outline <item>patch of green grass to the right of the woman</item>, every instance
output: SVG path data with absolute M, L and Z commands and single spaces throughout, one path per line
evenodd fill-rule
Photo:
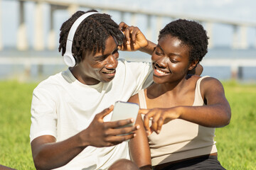
M 256 169 L 256 85 L 223 83 L 231 107 L 230 125 L 218 128 L 218 159 L 226 169 Z

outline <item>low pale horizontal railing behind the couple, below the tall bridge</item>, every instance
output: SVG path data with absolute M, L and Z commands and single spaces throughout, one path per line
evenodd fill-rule
M 129 58 L 124 57 L 126 60 L 131 60 L 134 62 L 151 62 L 150 57 L 145 60 L 142 58 Z M 256 58 L 255 59 L 225 59 L 218 58 L 216 59 L 208 59 L 205 58 L 201 62 L 203 67 L 230 67 L 230 79 L 243 79 L 243 68 L 244 67 L 256 67 Z M 1 65 L 23 65 L 23 73 L 26 77 L 23 77 L 25 80 L 31 79 L 32 74 L 32 66 L 36 66 L 37 75 L 43 75 L 43 67 L 44 66 L 61 66 L 65 67 L 63 62 L 63 58 L 60 56 L 56 57 L 0 57 L 0 67 Z M 33 71 L 35 72 L 35 71 Z M 53 73 L 50 73 L 53 74 Z M 47 77 L 50 76 L 46 75 Z

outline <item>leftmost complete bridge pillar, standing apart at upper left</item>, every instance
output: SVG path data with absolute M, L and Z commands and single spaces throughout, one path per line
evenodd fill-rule
M 24 1 L 18 1 L 19 4 L 19 23 L 17 31 L 17 48 L 18 50 L 28 49 L 28 40 L 26 35 Z

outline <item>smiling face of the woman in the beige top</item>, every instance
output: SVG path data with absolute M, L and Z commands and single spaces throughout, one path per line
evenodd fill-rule
M 172 35 L 161 38 L 151 57 L 154 82 L 164 84 L 183 79 L 190 64 L 189 50 L 188 45 Z

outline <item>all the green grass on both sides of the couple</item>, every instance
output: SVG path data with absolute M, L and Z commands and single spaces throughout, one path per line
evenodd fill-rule
M 34 169 L 29 143 L 31 98 L 36 83 L 0 81 L 0 164 Z M 230 125 L 218 128 L 218 159 L 225 169 L 256 169 L 256 85 L 223 83 Z

